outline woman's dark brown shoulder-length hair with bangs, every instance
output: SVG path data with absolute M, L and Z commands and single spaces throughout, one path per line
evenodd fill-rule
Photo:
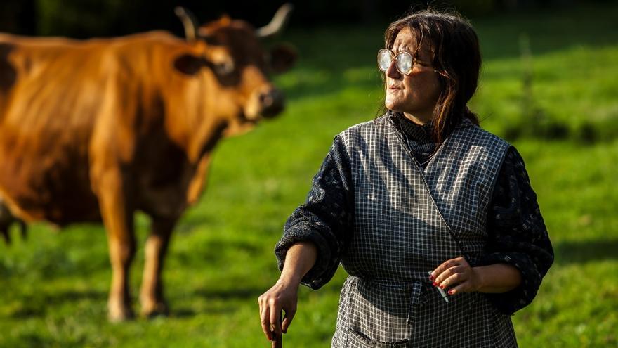
M 478 37 L 470 22 L 456 13 L 423 10 L 390 23 L 384 33 L 386 48 L 393 49 L 397 34 L 405 27 L 412 32 L 416 50 L 422 47 L 432 53 L 432 65 L 438 72 L 442 91 L 431 123 L 433 140 L 440 144 L 463 117 L 478 124 L 478 117 L 467 106 L 478 86 Z

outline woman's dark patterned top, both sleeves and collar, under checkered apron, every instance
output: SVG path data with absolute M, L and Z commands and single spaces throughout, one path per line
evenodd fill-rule
M 402 116 L 395 120 L 424 169 L 435 150 L 429 127 L 416 125 Z M 341 234 L 336 231 L 353 229 L 353 214 L 350 160 L 341 138 L 336 136 L 320 171 L 313 178 L 307 201 L 291 214 L 275 246 L 280 269 L 291 245 L 311 241 L 317 247 L 317 261 L 302 283 L 317 289 L 330 281 L 345 252 L 344 243 L 336 238 Z M 553 263 L 553 249 L 537 195 L 530 186 L 522 157 L 513 146 L 507 150 L 494 187 L 487 230 L 489 240 L 485 257 L 471 266 L 505 263 L 519 269 L 522 283 L 518 288 L 501 294 L 486 294 L 501 312 L 513 314 L 532 302 L 541 279 Z

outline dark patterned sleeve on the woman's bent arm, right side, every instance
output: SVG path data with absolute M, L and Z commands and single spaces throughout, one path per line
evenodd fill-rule
M 518 151 L 508 148 L 487 217 L 489 243 L 481 265 L 515 266 L 522 283 L 509 292 L 486 294 L 505 314 L 513 314 L 532 302 L 541 280 L 553 263 L 553 249 Z

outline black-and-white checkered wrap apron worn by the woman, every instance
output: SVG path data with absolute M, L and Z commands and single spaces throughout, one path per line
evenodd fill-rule
M 487 240 L 489 201 L 508 143 L 468 120 L 423 171 L 390 116 L 340 134 L 351 162 L 353 236 L 341 264 L 332 347 L 517 347 L 511 318 L 478 292 L 445 302 L 428 271 Z

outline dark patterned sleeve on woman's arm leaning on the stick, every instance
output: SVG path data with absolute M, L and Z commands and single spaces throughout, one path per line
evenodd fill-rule
M 353 224 L 353 197 L 350 160 L 341 138 L 336 136 L 313 178 L 307 200 L 291 214 L 275 246 L 279 269 L 283 269 L 291 245 L 310 241 L 317 247 L 317 259 L 301 283 L 312 289 L 328 283 L 348 244 L 348 232 Z

